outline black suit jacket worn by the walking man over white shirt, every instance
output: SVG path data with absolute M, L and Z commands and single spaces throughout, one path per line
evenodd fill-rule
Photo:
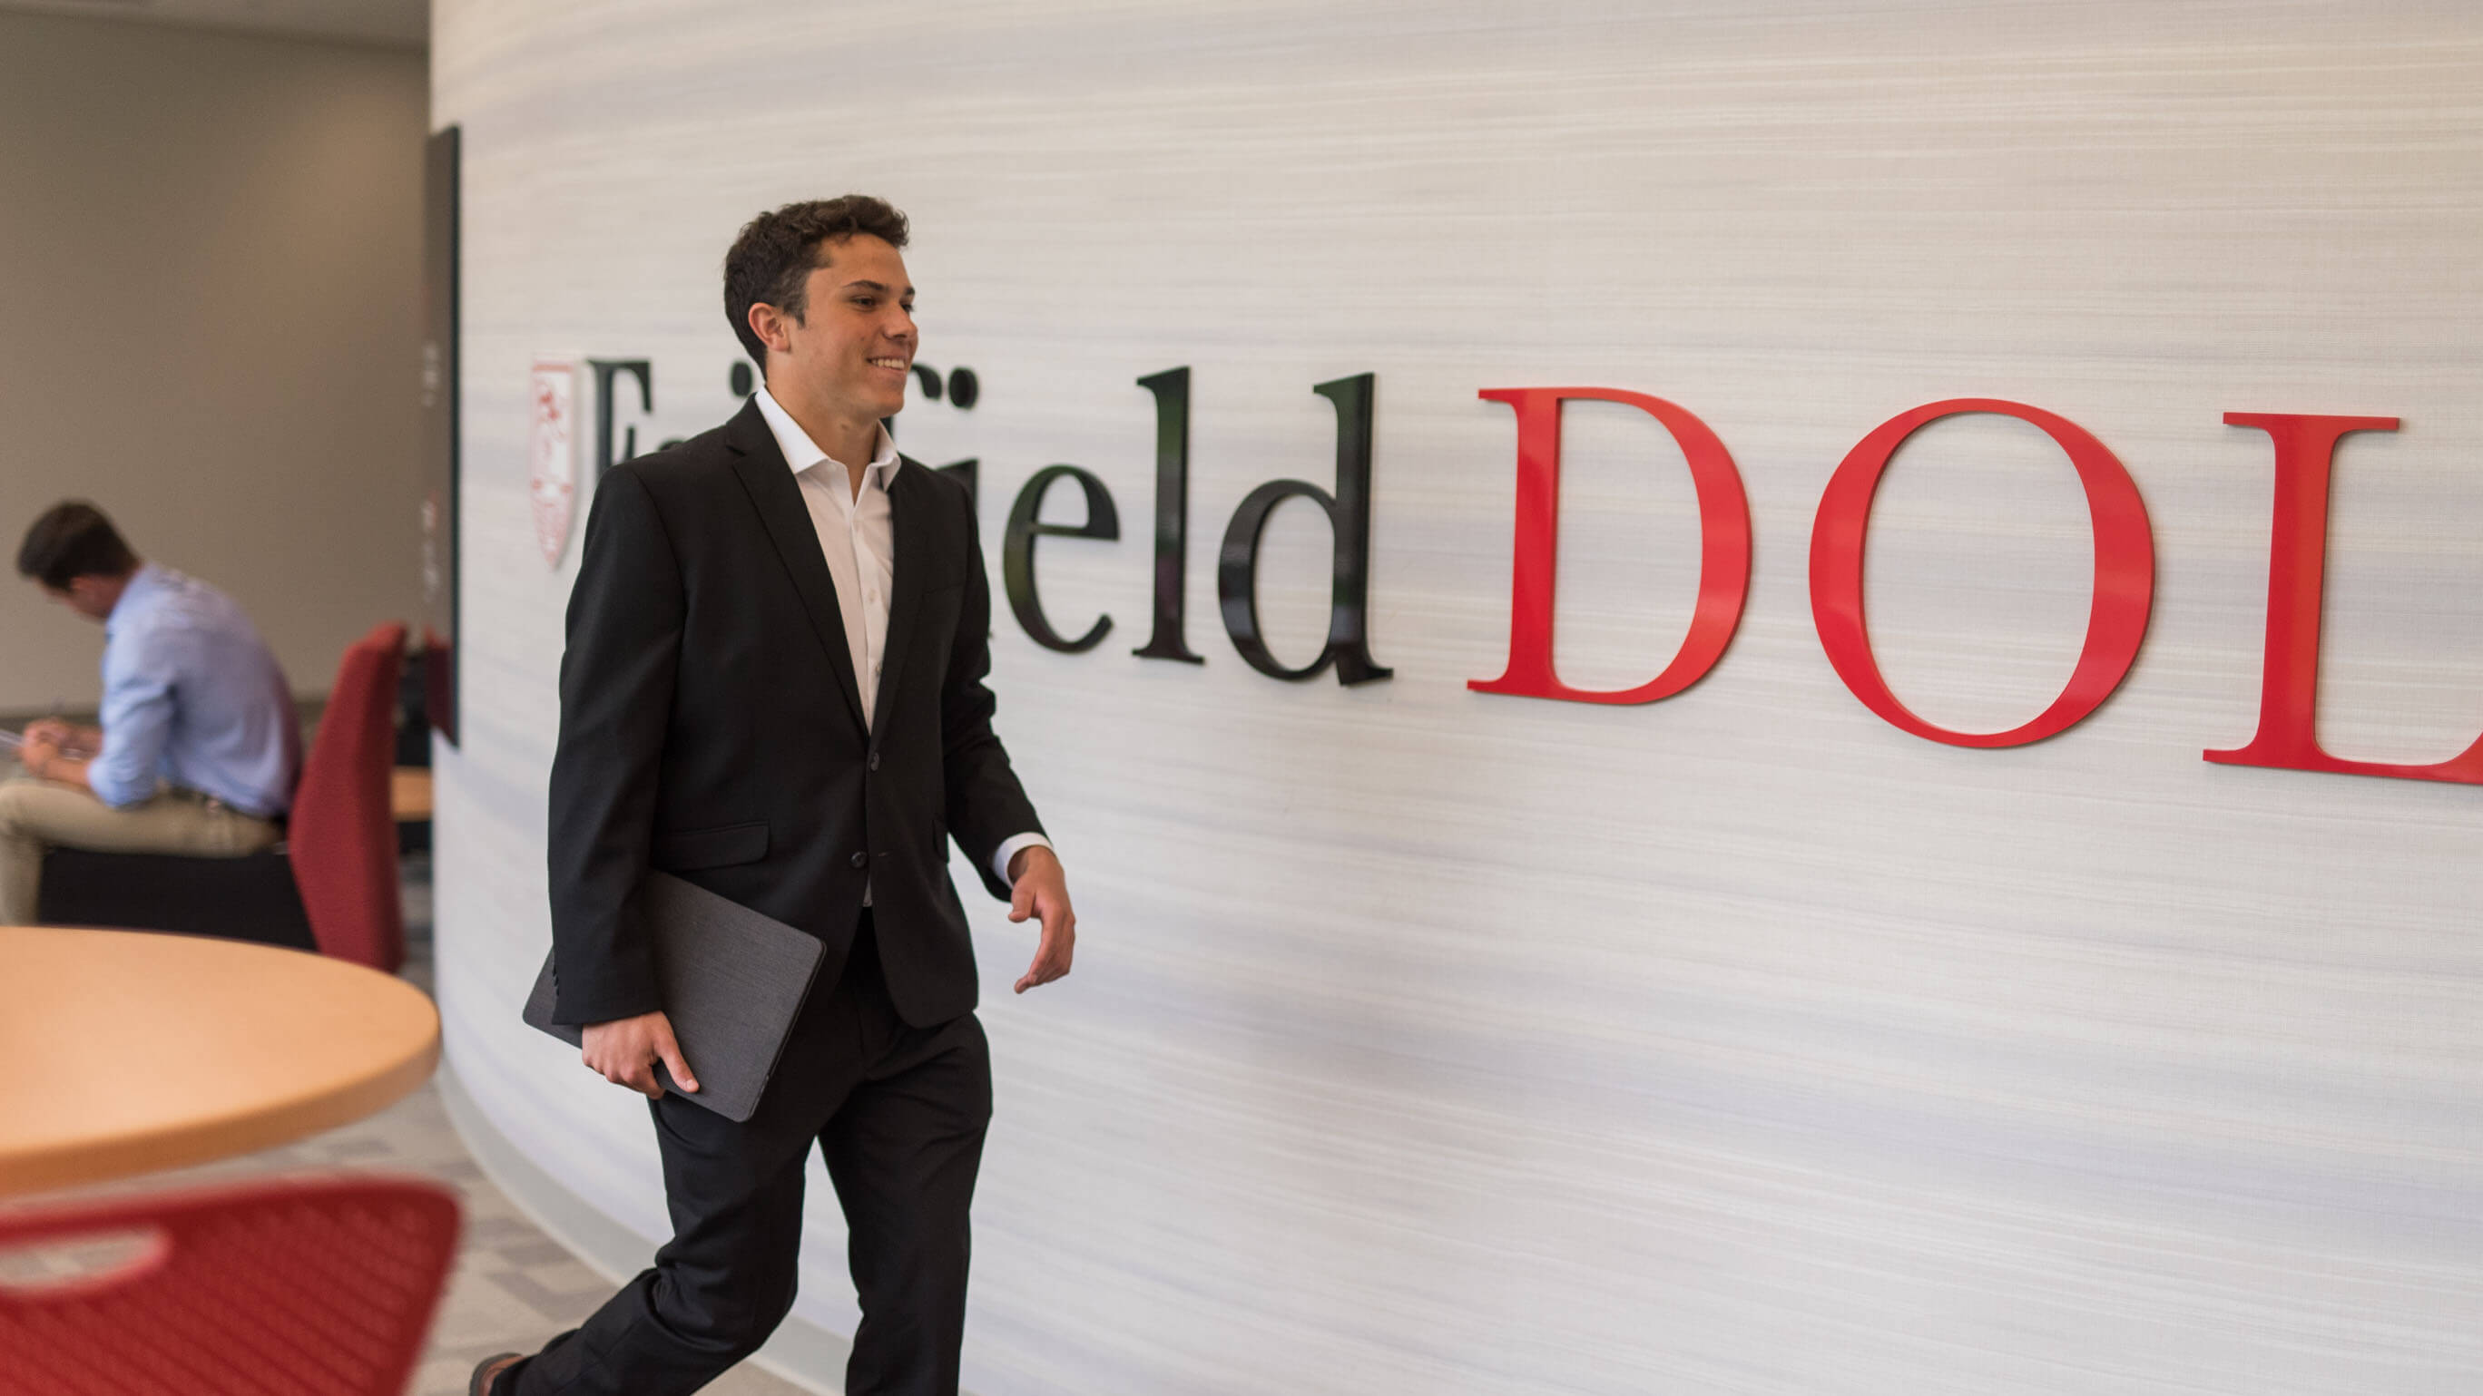
M 914 1026 L 973 1008 L 949 840 L 993 897 L 1003 840 L 1040 832 L 991 730 L 991 586 L 966 487 L 889 479 L 896 581 L 874 725 L 837 589 L 757 402 L 616 465 L 586 517 L 551 758 L 561 1023 L 660 1008 L 648 867 L 800 927 L 834 984 L 872 889 L 889 999 Z

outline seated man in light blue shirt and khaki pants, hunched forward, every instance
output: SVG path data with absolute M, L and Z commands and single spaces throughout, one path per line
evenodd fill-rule
M 241 857 L 281 837 L 300 723 L 241 606 L 142 561 L 94 504 L 55 504 L 17 571 L 104 623 L 102 728 L 25 730 L 0 782 L 0 927 L 35 922 L 45 847 Z

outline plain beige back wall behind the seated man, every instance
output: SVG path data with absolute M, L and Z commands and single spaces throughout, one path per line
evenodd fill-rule
M 420 609 L 425 55 L 0 15 L 0 544 L 60 497 L 231 591 L 303 693 Z M 0 713 L 99 633 L 0 584 Z

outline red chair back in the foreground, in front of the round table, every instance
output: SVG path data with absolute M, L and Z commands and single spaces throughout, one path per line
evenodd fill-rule
M 457 1200 L 355 1177 L 0 1212 L 0 1257 L 132 1235 L 102 1274 L 0 1267 L 0 1396 L 405 1396 Z

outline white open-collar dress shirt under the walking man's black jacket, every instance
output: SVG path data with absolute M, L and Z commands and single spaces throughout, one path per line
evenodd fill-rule
M 896 584 L 896 532 L 889 522 L 889 479 L 904 467 L 896 442 L 879 427 L 872 462 L 862 467 L 862 489 L 854 489 L 854 472 L 819 450 L 802 422 L 792 420 L 770 392 L 755 395 L 760 417 L 775 432 L 785 465 L 792 467 L 795 484 L 802 487 L 802 504 L 809 509 L 809 527 L 819 534 L 819 551 L 827 556 L 827 576 L 837 584 L 837 611 L 844 619 L 844 648 L 854 656 L 854 683 L 862 688 L 862 725 L 872 725 L 872 708 L 879 703 L 879 666 L 889 653 L 889 589 Z M 1008 859 L 1025 847 L 1053 847 L 1035 832 L 1001 840 L 991 854 L 991 867 L 1001 882 L 1011 882 Z M 869 889 L 862 904 L 872 904 Z

